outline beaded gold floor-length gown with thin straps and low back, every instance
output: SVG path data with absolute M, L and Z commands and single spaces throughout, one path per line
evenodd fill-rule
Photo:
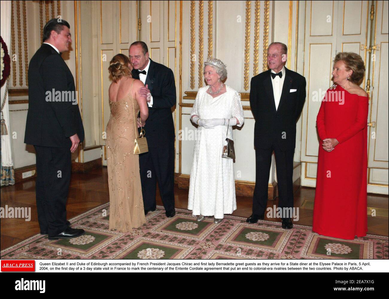
M 109 229 L 131 232 L 146 222 L 139 156 L 133 154 L 136 136 L 133 110 L 137 112 L 139 105 L 132 99 L 132 87 L 126 97 L 109 103 L 111 115 L 106 129 Z

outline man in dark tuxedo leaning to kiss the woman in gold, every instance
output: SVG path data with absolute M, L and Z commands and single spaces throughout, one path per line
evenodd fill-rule
M 139 155 L 145 214 L 156 209 L 158 181 L 166 217 L 173 217 L 175 133 L 171 108 L 176 102 L 174 74 L 168 67 L 149 59 L 149 49 L 143 41 L 132 43 L 129 54 L 133 78 L 145 85 L 138 93 L 147 99 L 149 106 L 149 118 L 144 126 L 149 152 Z

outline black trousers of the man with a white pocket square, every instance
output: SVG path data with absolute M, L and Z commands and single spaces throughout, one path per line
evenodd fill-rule
M 275 154 L 277 168 L 277 185 L 279 194 L 279 207 L 293 207 L 293 150 L 282 151 L 277 144 L 271 149 L 256 149 L 256 179 L 254 197 L 252 199 L 252 213 L 261 215 L 265 213 L 268 200 L 268 182 L 272 154 Z

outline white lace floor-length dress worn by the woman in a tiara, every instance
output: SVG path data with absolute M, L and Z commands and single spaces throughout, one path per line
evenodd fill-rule
M 226 85 L 225 93 L 212 98 L 207 93 L 208 88 L 198 90 L 191 116 L 198 115 L 201 119 L 236 117 L 238 126 L 242 126 L 244 116 L 239 93 Z M 193 210 L 193 215 L 221 219 L 237 209 L 233 159 L 221 157 L 227 130 L 232 140 L 231 126 L 197 128 L 188 198 L 188 209 Z

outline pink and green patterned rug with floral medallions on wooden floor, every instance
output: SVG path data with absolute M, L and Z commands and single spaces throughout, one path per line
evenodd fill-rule
M 109 204 L 70 221 L 86 233 L 74 239 L 48 240 L 35 235 L 1 251 L 2 259 L 387 259 L 388 237 L 368 235 L 353 241 L 320 236 L 310 226 L 226 216 L 197 222 L 176 209 L 166 218 L 163 207 L 147 214 L 147 223 L 131 233 L 110 231 Z

